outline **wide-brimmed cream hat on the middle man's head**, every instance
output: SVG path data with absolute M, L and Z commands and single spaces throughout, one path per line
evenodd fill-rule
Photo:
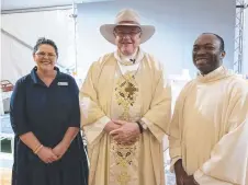
M 117 25 L 138 26 L 142 30 L 140 44 L 147 42 L 155 33 L 155 26 L 142 25 L 139 15 L 132 9 L 124 9 L 117 13 L 114 24 L 103 24 L 100 27 L 102 36 L 115 45 L 114 27 Z

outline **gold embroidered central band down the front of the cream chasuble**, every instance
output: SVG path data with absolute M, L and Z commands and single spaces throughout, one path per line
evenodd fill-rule
M 115 84 L 115 101 L 123 108 L 122 114 L 119 116 L 121 120 L 133 122 L 129 111 L 134 106 L 138 95 L 138 88 L 134 77 L 135 72 L 126 72 L 117 79 Z M 138 184 L 138 140 L 131 146 L 124 146 L 111 139 L 111 185 Z

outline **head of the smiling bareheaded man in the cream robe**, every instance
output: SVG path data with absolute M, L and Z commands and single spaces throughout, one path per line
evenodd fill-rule
M 224 48 L 217 36 L 202 34 L 193 46 L 193 62 L 202 74 L 207 74 L 222 66 Z

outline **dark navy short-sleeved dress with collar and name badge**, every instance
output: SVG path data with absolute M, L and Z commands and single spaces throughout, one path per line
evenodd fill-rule
M 11 96 L 11 125 L 15 134 L 12 185 L 87 185 L 88 161 L 81 135 L 64 157 L 46 164 L 19 136 L 32 131 L 49 148 L 58 144 L 68 127 L 80 127 L 79 90 L 72 77 L 59 72 L 47 88 L 36 68 L 21 78 Z

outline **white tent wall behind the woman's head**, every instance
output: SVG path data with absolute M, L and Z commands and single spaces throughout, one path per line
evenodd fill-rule
M 71 13 L 72 10 L 54 10 L 2 14 L 1 80 L 15 83 L 31 71 L 35 63 L 27 46 L 33 47 L 38 37 L 53 39 L 58 47 L 58 66 L 72 68 L 76 53 Z

